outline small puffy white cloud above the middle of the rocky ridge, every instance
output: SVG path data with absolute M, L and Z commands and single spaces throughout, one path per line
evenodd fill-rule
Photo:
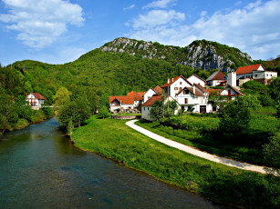
M 132 26 L 134 29 L 150 28 L 158 25 L 174 25 L 176 22 L 184 20 L 183 13 L 177 13 L 174 10 L 151 10 L 146 15 L 140 15 L 134 19 Z

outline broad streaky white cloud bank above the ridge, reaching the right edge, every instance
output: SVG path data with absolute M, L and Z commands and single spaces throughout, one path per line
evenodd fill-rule
M 279 8 L 279 0 L 264 4 L 257 1 L 225 14 L 219 11 L 208 17 L 201 14 L 201 18 L 192 25 L 182 25 L 178 21 L 183 19 L 183 14 L 173 18 L 177 20 L 176 25 L 172 23 L 174 21 L 167 21 L 163 17 L 150 20 L 150 14 L 140 15 L 134 20 L 128 36 L 180 46 L 189 45 L 195 39 L 206 39 L 237 47 L 254 59 L 266 59 L 279 54 Z M 172 13 L 177 14 L 175 11 Z

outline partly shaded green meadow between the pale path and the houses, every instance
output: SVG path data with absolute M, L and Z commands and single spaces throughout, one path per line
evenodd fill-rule
M 178 123 L 178 117 L 174 118 Z M 160 122 L 136 124 L 181 144 L 191 145 L 202 151 L 232 158 L 237 161 L 265 165 L 262 145 L 269 135 L 280 126 L 279 120 L 272 114 L 252 114 L 247 134 L 241 139 L 227 139 L 217 134 L 220 119 L 215 114 L 186 114 L 181 117 L 181 124 L 187 130 L 173 129 Z

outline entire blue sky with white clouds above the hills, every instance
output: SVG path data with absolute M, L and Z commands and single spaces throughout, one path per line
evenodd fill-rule
M 280 55 L 280 0 L 0 0 L 0 63 L 72 62 L 118 37 Z

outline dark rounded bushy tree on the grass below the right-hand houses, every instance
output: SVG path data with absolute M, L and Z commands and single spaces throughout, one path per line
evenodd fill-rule
M 219 129 L 221 132 L 241 134 L 249 126 L 250 111 L 242 103 L 231 102 L 223 106 Z

